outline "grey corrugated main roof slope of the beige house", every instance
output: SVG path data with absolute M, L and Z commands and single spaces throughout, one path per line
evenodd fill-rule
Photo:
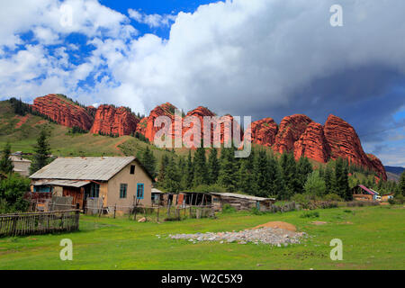
M 108 181 L 133 160 L 135 157 L 60 157 L 30 178 Z

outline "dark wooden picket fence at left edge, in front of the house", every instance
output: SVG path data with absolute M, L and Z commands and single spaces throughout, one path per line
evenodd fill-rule
M 0 237 L 76 231 L 79 210 L 0 215 Z

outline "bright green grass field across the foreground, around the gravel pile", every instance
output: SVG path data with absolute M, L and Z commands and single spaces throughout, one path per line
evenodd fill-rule
M 350 211 L 349 211 L 350 210 Z M 0 269 L 404 269 L 405 210 L 377 206 L 320 210 L 320 218 L 302 211 L 253 215 L 219 214 L 218 219 L 138 223 L 128 219 L 81 218 L 70 234 L 0 238 Z M 238 243 L 193 244 L 166 238 L 193 233 L 252 228 L 272 220 L 309 233 L 305 243 L 289 247 Z M 313 220 L 328 222 L 311 224 Z M 157 238 L 156 235 L 161 235 Z M 73 261 L 59 259 L 59 241 L 73 241 Z M 332 261 L 333 238 L 343 241 L 343 261 Z M 261 266 L 257 266 L 257 265 Z

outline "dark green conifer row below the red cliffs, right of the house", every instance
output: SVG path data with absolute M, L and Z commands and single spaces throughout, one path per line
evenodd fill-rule
M 311 193 L 320 197 L 336 194 L 350 201 L 351 187 L 356 182 L 350 182 L 349 175 L 365 171 L 341 158 L 314 169 L 308 158 L 295 160 L 293 153 L 277 157 L 271 151 L 253 149 L 249 157 L 236 158 L 234 152 L 234 148 L 197 148 L 193 155 L 190 150 L 187 157 L 164 155 L 158 170 L 156 158 L 148 148 L 139 158 L 157 176 L 157 186 L 166 192 L 246 193 L 279 200 Z M 148 161 L 153 164 L 148 165 Z M 392 191 L 396 191 L 395 183 L 379 182 L 381 187 L 392 184 Z

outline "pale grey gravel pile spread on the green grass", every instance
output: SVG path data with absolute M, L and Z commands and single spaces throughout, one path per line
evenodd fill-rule
M 246 229 L 239 232 L 196 233 L 196 234 L 170 234 L 168 238 L 184 239 L 193 243 L 201 241 L 220 241 L 220 243 L 247 244 L 247 242 L 269 244 L 274 246 L 288 246 L 299 244 L 302 238 L 307 238 L 305 232 L 293 232 L 278 228 Z

